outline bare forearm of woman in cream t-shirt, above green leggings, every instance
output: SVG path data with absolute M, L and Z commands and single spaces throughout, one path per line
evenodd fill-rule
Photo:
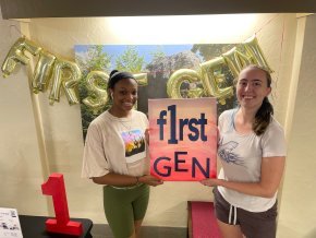
M 97 185 L 108 185 L 108 186 L 118 186 L 118 187 L 135 186 L 136 183 L 139 183 L 139 182 L 154 186 L 154 187 L 163 183 L 162 180 L 150 175 L 145 175 L 142 177 L 133 177 L 133 176 L 127 176 L 127 175 L 119 175 L 114 172 L 109 172 L 101 177 L 93 177 L 92 179 Z

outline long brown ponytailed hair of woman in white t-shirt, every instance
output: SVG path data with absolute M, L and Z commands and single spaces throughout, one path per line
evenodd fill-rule
M 250 64 L 245 67 L 243 70 L 246 69 L 258 69 L 265 72 L 266 78 L 267 78 L 267 86 L 271 87 L 271 74 L 270 72 L 259 66 L 256 64 Z M 238 79 L 235 79 L 234 84 L 236 85 Z M 265 133 L 266 129 L 268 128 L 274 115 L 274 106 L 270 104 L 268 97 L 265 97 L 263 100 L 263 104 L 260 108 L 257 110 L 255 115 L 255 120 L 253 122 L 253 131 L 255 132 L 256 135 L 262 135 Z

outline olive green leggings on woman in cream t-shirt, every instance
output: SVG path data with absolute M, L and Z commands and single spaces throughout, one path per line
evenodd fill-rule
M 131 237 L 134 222 L 145 217 L 149 200 L 149 186 L 133 189 L 104 187 L 104 206 L 109 226 L 116 238 Z

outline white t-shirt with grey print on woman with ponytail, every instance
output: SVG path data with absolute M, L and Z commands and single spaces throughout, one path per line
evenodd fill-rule
M 258 182 L 263 157 L 285 156 L 285 139 L 282 127 L 272 118 L 266 132 L 240 134 L 234 128 L 238 109 L 222 112 L 219 117 L 218 156 L 222 168 L 218 178 L 228 181 Z M 221 195 L 232 205 L 250 212 L 264 212 L 276 203 L 274 198 L 254 197 L 218 187 Z

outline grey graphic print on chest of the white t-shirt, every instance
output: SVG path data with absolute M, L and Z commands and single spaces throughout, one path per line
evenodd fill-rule
M 233 152 L 234 148 L 239 145 L 238 142 L 235 141 L 229 141 L 227 143 L 222 143 L 222 139 L 219 141 L 219 146 L 218 146 L 218 155 L 219 157 L 224 160 L 226 163 L 234 164 L 234 165 L 240 165 L 244 166 L 243 159 Z

